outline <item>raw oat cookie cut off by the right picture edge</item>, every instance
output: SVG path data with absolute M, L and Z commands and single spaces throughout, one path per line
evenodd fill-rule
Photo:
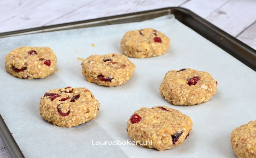
M 256 158 L 256 121 L 233 130 L 231 146 L 238 158 Z

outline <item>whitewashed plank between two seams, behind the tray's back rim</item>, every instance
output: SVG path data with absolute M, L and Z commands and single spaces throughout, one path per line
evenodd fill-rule
M 132 0 L 98 0 L 90 1 L 88 4 L 77 9 L 70 14 L 64 15 L 57 20 L 46 23 L 45 25 L 60 24 L 64 22 L 79 21 L 85 19 L 94 19 L 111 15 L 120 15 L 125 13 L 140 12 L 152 10 L 157 8 L 164 8 L 170 6 L 178 6 L 186 2 L 186 0 L 157 0 L 157 1 L 132 1 Z M 99 5 L 104 4 L 104 5 Z

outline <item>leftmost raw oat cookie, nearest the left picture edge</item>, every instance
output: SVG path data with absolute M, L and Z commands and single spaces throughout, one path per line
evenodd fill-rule
M 57 58 L 49 47 L 20 47 L 5 57 L 5 69 L 15 77 L 44 78 L 54 72 Z

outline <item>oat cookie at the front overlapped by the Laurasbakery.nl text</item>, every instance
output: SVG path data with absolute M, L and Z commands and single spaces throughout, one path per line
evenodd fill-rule
M 183 143 L 192 126 L 191 118 L 178 110 L 165 106 L 142 107 L 129 118 L 127 132 L 132 140 L 162 151 Z

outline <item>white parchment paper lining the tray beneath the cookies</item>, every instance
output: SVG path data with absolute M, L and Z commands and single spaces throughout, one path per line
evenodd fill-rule
M 155 28 L 171 39 L 162 56 L 130 60 L 136 69 L 120 87 L 88 83 L 77 57 L 121 53 L 124 33 Z M 92 43 L 95 47 L 92 47 Z M 144 22 L 82 28 L 0 39 L 0 112 L 26 157 L 236 157 L 230 134 L 236 127 L 255 120 L 256 73 L 173 16 Z M 4 68 L 4 57 L 21 46 L 49 46 L 58 58 L 58 72 L 44 79 L 18 79 Z M 196 106 L 173 106 L 159 92 L 169 70 L 193 68 L 209 72 L 218 81 L 216 95 Z M 60 128 L 39 115 L 40 97 L 61 87 L 87 87 L 100 102 L 99 115 L 72 128 Z M 159 152 L 136 145 L 96 146 L 96 141 L 131 141 L 126 123 L 141 107 L 165 105 L 189 115 L 194 123 L 186 141 Z

